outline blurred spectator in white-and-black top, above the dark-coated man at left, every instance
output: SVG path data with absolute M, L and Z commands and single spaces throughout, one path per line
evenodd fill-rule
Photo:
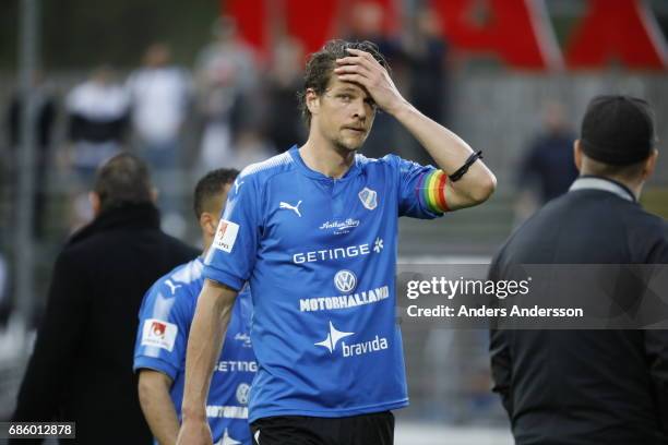
M 128 127 L 129 99 L 109 67 L 96 69 L 67 97 L 71 164 L 84 184 L 97 167 L 120 152 Z

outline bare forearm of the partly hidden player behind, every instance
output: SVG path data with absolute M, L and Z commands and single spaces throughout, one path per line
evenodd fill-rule
M 171 378 L 159 371 L 140 371 L 140 405 L 151 432 L 160 445 L 176 444 L 179 434 L 179 419 L 169 397 L 171 383 Z

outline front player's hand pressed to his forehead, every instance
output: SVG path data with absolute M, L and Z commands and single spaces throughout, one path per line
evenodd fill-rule
M 349 56 L 336 59 L 334 73 L 342 82 L 361 85 L 384 111 L 392 113 L 405 103 L 385 70 L 369 52 L 348 48 Z

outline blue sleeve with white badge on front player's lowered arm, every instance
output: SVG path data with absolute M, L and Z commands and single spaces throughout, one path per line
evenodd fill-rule
M 262 194 L 257 175 L 239 175 L 229 191 L 216 236 L 204 258 L 203 276 L 240 290 L 255 265 Z

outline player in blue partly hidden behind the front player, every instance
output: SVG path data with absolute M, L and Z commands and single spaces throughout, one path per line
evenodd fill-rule
M 238 171 L 218 169 L 195 187 L 194 211 L 204 251 L 211 245 L 218 215 Z M 142 410 L 156 441 L 174 444 L 179 432 L 188 332 L 204 284 L 202 258 L 183 264 L 158 279 L 144 297 L 134 352 Z M 248 392 L 257 371 L 249 337 L 250 296 L 243 291 L 231 308 L 225 348 L 212 365 L 213 382 L 206 417 L 216 444 L 251 443 Z

